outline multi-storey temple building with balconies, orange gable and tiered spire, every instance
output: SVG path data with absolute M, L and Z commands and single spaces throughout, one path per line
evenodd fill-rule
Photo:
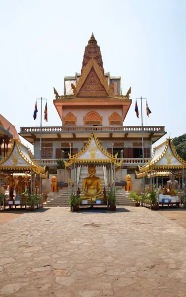
M 68 159 L 87 145 L 91 133 L 109 153 L 122 159 L 122 168 L 135 172 L 142 165 L 140 126 L 125 126 L 131 106 L 131 88 L 122 95 L 121 77 L 105 73 L 101 51 L 93 34 L 85 48 L 81 73 L 64 78 L 64 94 L 53 88 L 53 103 L 62 121 L 59 127 L 42 127 L 42 165 L 56 167 L 58 158 Z M 134 117 L 135 117 L 134 112 Z M 51 120 L 52 121 L 52 120 Z M 52 124 L 52 122 L 51 122 Z M 34 159 L 40 159 L 40 127 L 21 127 L 19 133 L 34 145 Z M 163 135 L 163 126 L 144 126 L 144 162 L 151 146 Z

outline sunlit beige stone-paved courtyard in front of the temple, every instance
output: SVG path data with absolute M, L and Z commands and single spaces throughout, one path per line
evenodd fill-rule
M 186 229 L 142 207 L 23 213 L 0 225 L 0 296 L 186 297 Z

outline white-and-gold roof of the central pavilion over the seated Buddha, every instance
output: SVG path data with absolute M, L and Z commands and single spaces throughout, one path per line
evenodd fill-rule
M 119 169 L 122 164 L 122 160 L 117 162 L 117 153 L 112 155 L 108 151 L 106 151 L 98 141 L 98 138 L 92 133 L 87 145 L 82 148 L 82 150 L 75 155 L 69 155 L 69 162 L 67 163 L 64 160 L 65 166 L 68 168 L 73 163 L 79 163 L 80 165 L 105 165 L 108 163 L 113 163 L 116 169 Z

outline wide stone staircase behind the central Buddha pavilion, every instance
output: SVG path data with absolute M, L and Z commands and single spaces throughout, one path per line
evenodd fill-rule
M 83 179 L 88 176 L 89 176 L 88 167 L 81 167 L 79 184 L 78 184 L 78 187 L 80 188 L 81 193 L 82 193 Z M 96 176 L 98 176 L 101 179 L 102 190 L 103 190 L 103 188 L 105 187 L 103 167 L 96 166 Z M 107 187 L 105 188 L 107 191 Z M 70 197 L 70 195 L 71 195 L 71 190 L 67 190 L 63 194 L 60 194 L 57 197 L 50 199 L 50 201 L 45 202 L 44 206 L 68 207 L 69 206 L 68 198 Z M 135 201 L 132 201 L 129 199 L 127 192 L 125 192 L 124 194 L 123 190 L 116 191 L 116 206 L 133 206 L 133 205 L 135 206 Z

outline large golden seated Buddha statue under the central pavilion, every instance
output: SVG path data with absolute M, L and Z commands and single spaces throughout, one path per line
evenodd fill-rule
M 89 177 L 83 179 L 82 191 L 85 195 L 82 195 L 83 200 L 87 199 L 88 203 L 93 202 L 96 199 L 104 200 L 104 195 L 102 194 L 101 179 L 95 176 L 95 165 L 89 166 Z

